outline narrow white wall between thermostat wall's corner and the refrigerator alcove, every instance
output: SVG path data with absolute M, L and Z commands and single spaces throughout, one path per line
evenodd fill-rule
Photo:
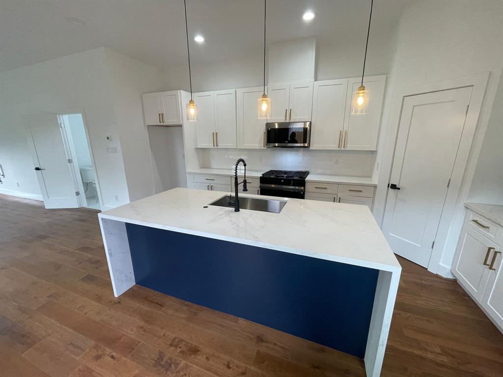
M 129 200 L 135 201 L 155 194 L 141 93 L 160 91 L 163 75 L 157 68 L 129 56 L 109 49 L 105 52 Z

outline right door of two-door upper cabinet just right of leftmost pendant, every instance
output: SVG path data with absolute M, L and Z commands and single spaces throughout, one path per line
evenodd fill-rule
M 236 90 L 214 92 L 215 101 L 215 146 L 236 148 Z

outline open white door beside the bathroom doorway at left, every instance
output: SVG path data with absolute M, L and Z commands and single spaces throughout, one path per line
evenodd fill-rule
M 33 163 L 45 208 L 77 208 L 74 177 L 56 114 L 28 121 Z

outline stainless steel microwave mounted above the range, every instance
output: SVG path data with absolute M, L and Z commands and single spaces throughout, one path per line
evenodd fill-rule
M 266 146 L 307 148 L 311 137 L 311 122 L 266 123 Z

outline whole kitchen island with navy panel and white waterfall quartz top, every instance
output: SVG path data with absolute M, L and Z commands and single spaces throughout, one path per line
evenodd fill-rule
M 224 195 L 178 188 L 100 213 L 115 296 L 139 284 L 363 357 L 378 376 L 401 267 L 369 209 L 209 205 Z

